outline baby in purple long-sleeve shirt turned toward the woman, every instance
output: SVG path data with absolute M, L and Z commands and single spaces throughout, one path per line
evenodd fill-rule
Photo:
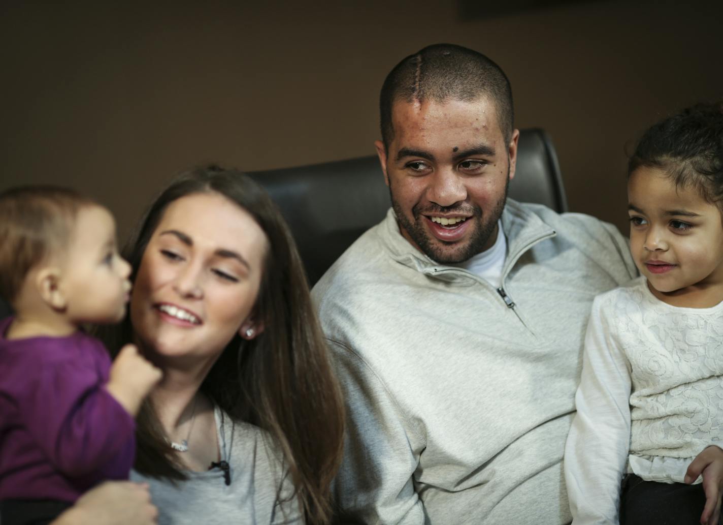
M 133 417 L 161 372 L 128 345 L 111 366 L 85 323 L 116 323 L 129 264 L 115 223 L 71 190 L 0 194 L 0 513 L 3 525 L 52 521 L 103 479 L 126 479 Z

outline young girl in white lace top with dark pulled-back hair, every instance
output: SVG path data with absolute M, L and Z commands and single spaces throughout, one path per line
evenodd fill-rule
M 628 201 L 642 275 L 593 304 L 565 448 L 573 524 L 717 524 L 723 104 L 686 109 L 643 135 Z

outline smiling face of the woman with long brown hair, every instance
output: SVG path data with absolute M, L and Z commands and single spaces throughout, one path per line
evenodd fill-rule
M 260 332 L 253 309 L 267 250 L 251 215 L 218 193 L 169 204 L 133 285 L 138 343 L 161 364 L 210 366 L 236 333 Z

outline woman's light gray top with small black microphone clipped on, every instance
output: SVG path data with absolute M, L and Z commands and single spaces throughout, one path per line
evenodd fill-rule
M 283 479 L 281 453 L 258 427 L 233 421 L 215 408 L 221 460 L 228 462 L 231 484 L 221 469 L 188 471 L 189 479 L 171 482 L 131 472 L 131 481 L 150 485 L 158 507 L 158 525 L 302 524 L 291 479 Z M 281 503 L 279 503 L 281 500 Z

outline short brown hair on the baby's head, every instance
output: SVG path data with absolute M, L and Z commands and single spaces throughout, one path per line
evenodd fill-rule
M 78 210 L 98 206 L 69 188 L 19 186 L 0 193 L 0 296 L 13 303 L 27 273 L 69 243 Z

